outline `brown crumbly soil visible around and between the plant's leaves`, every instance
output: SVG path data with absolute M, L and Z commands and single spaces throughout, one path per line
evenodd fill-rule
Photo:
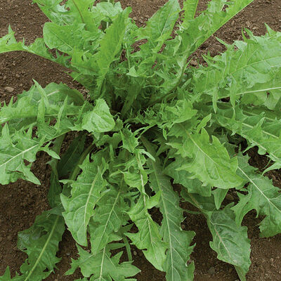
M 15 31 L 17 39 L 25 38 L 31 43 L 37 37 L 42 36 L 42 27 L 47 18 L 31 0 L 0 0 L 0 37 L 8 32 L 8 24 Z M 132 6 L 131 18 L 138 25 L 143 25 L 145 20 L 157 11 L 166 1 L 164 0 L 122 0 L 122 6 Z M 199 10 L 202 11 L 207 5 L 207 0 L 200 1 Z M 227 43 L 242 39 L 242 27 L 247 27 L 256 35 L 266 32 L 266 22 L 273 30 L 281 31 L 281 1 L 280 0 L 255 0 L 233 20 L 230 20 L 215 36 Z M 211 37 L 204 43 L 195 55 L 210 52 L 216 55 L 223 51 L 223 46 Z M 46 86 L 51 81 L 60 82 L 70 87 L 81 89 L 81 86 L 72 82 L 71 77 L 65 73 L 63 67 L 59 67 L 43 58 L 22 52 L 13 52 L 0 55 L 0 102 L 8 102 L 12 96 L 16 96 L 23 90 L 30 89 L 32 79 Z M 11 87 L 11 92 L 6 91 L 6 86 Z M 69 140 L 70 140 L 69 136 Z M 69 141 L 68 141 L 69 142 Z M 67 141 L 66 144 L 67 145 Z M 251 164 L 263 169 L 266 166 L 266 158 L 257 154 L 256 150 L 250 150 Z M 17 181 L 9 185 L 0 185 L 0 276 L 6 266 L 10 266 L 13 275 L 19 271 L 20 265 L 26 256 L 16 247 L 17 233 L 28 228 L 34 222 L 35 217 L 48 209 L 46 193 L 50 169 L 46 162 L 48 157 L 41 153 L 34 163 L 32 171 L 41 181 L 41 185 L 34 185 L 26 181 Z M 281 188 L 281 172 L 271 171 L 268 176 L 273 178 L 273 183 Z M 255 218 L 254 212 L 244 218 L 243 224 L 248 227 L 251 239 L 251 267 L 247 275 L 249 281 L 281 280 L 281 235 L 268 239 L 259 238 L 259 219 Z M 191 260 L 195 262 L 195 281 L 235 281 L 239 280 L 235 269 L 227 263 L 218 261 L 216 253 L 209 247 L 211 235 L 207 228 L 204 217 L 187 214 L 183 222 L 186 230 L 195 230 L 195 250 Z M 58 256 L 62 261 L 46 280 L 75 280 L 81 277 L 77 271 L 72 276 L 63 276 L 70 267 L 70 258 L 75 258 L 77 250 L 70 233 L 63 235 L 60 243 Z M 143 254 L 133 249 L 135 265 L 142 272 L 136 276 L 138 281 L 165 280 L 164 274 L 150 266 Z

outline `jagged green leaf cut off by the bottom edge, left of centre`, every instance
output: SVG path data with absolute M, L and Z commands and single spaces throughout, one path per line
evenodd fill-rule
M 123 252 L 120 251 L 112 256 L 110 249 L 116 249 L 112 245 L 114 244 L 103 248 L 98 254 L 89 253 L 77 246 L 79 258 L 72 259 L 72 268 L 67 271 L 66 275 L 70 275 L 80 268 L 85 277 L 90 277 L 90 281 L 132 280 L 128 277 L 136 275 L 140 270 L 133 266 L 131 261 L 119 263 Z

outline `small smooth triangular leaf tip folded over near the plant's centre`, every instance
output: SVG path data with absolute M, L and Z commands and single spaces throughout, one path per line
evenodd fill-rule
M 105 100 L 96 100 L 93 110 L 86 112 L 81 124 L 82 129 L 89 132 L 103 133 L 111 131 L 115 127 L 115 120 L 110 114 L 110 108 Z

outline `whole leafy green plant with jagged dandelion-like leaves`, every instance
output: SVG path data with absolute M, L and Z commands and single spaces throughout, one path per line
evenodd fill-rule
M 119 2 L 34 0 L 50 19 L 44 38 L 26 46 L 9 28 L 0 53 L 27 51 L 63 65 L 88 96 L 34 81 L 1 107 L 0 183 L 40 184 L 30 170 L 39 151 L 52 157 L 52 173 L 51 209 L 18 234 L 28 257 L 20 273 L 12 278 L 7 268 L 0 280 L 48 277 L 60 261 L 65 225 L 79 251 L 67 275 L 80 268 L 83 281 L 136 280 L 133 244 L 166 280 L 193 280 L 194 263 L 187 261 L 195 233 L 181 229 L 180 202 L 204 214 L 211 249 L 246 280 L 244 216 L 255 209 L 263 217 L 261 237 L 281 233 L 280 190 L 244 153 L 257 146 L 268 156 L 266 171 L 281 167 L 281 34 L 268 26 L 262 37 L 245 30 L 244 41 L 220 40 L 226 52 L 204 56 L 207 66 L 188 63 L 251 1 L 212 0 L 195 18 L 198 0 L 185 0 L 182 10 L 169 0 L 137 27 L 131 8 Z M 78 133 L 62 154 L 71 131 Z M 230 204 L 228 192 L 237 195 Z M 128 260 L 120 262 L 123 247 Z

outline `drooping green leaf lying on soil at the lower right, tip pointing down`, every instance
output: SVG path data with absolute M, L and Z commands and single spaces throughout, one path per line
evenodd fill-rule
M 218 259 L 233 264 L 240 280 L 246 281 L 245 275 L 251 264 L 247 227 L 237 225 L 235 214 L 229 206 L 217 210 L 214 197 L 190 195 L 186 190 L 183 190 L 181 195 L 200 209 L 207 218 L 208 227 L 213 237 L 210 247 L 217 252 Z

